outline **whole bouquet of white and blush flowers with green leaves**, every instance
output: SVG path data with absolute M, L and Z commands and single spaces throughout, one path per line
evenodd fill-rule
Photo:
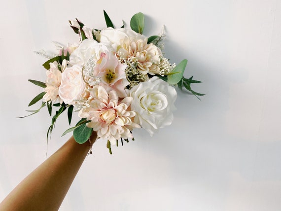
M 142 13 L 131 18 L 131 29 L 124 25 L 114 28 L 105 11 L 104 15 L 107 27 L 101 30 L 87 28 L 78 19 L 70 21 L 79 43 L 59 46 L 53 57 L 45 55 L 45 82 L 29 80 L 44 91 L 29 106 L 42 100 L 40 108 L 31 112 L 47 106 L 50 116 L 57 107 L 47 140 L 61 113 L 67 110 L 70 124 L 76 111 L 81 120 L 63 135 L 73 131 L 75 141 L 84 143 L 95 131 L 107 140 L 111 154 L 111 144 L 134 140 L 134 128 L 143 128 L 152 136 L 172 123 L 174 86 L 184 87 L 196 97 L 203 94 L 190 87 L 201 81 L 183 76 L 187 60 L 175 65 L 164 57 L 163 33 L 142 35 Z

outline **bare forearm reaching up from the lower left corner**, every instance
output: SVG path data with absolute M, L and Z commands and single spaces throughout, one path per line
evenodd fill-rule
M 97 139 L 94 132 L 90 138 Z M 0 203 L 0 211 L 57 211 L 90 150 L 90 142 L 71 137 Z

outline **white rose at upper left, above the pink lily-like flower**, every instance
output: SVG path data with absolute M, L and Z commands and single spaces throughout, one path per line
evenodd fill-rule
M 99 60 L 101 53 L 105 51 L 109 51 L 109 49 L 103 43 L 94 39 L 84 39 L 71 53 L 70 64 L 83 66 L 92 56 L 94 60 Z

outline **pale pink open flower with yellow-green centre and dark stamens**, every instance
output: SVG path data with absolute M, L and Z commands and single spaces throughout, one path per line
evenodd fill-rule
M 126 79 L 125 69 L 127 65 L 123 65 L 117 57 L 111 53 L 101 53 L 101 58 L 98 60 L 94 75 L 101 78 L 101 83 L 107 92 L 115 90 L 121 98 L 127 97 L 125 87 L 129 84 Z

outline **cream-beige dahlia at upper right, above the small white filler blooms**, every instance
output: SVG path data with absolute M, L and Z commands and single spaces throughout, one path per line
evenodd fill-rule
M 120 41 L 117 55 L 123 59 L 136 58 L 138 70 L 142 74 L 157 74 L 160 72 L 158 64 L 162 53 L 152 43 L 147 44 L 147 39 L 136 39 L 125 37 Z

